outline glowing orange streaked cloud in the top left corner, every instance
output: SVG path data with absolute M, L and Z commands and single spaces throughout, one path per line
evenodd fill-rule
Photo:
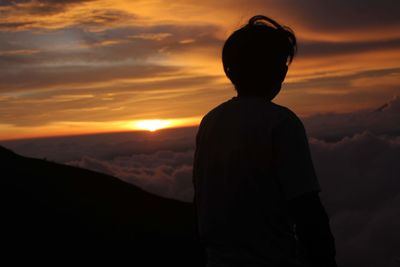
M 102 31 L 108 28 L 129 25 L 137 17 L 124 10 L 91 8 L 70 12 L 70 9 L 96 0 L 73 1 L 18 1 L 3 5 L 0 15 L 4 23 L 0 24 L 0 31 L 51 31 L 68 27 L 82 28 L 86 31 Z M 1 7 L 1 6 L 0 6 Z M 59 16 L 62 14 L 63 16 Z

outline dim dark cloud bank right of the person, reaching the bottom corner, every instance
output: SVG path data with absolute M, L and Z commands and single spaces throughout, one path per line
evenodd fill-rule
M 312 139 L 322 200 L 345 266 L 400 266 L 400 137 Z

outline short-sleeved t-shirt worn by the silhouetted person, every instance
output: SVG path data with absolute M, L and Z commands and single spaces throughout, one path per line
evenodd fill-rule
M 196 135 L 193 185 L 210 261 L 297 266 L 287 201 L 320 186 L 303 123 L 291 110 L 233 97 L 208 112 Z

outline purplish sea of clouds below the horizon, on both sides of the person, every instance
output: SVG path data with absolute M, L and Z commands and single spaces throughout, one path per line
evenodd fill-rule
M 400 97 L 303 118 L 340 267 L 400 266 Z M 196 128 L 1 142 L 25 156 L 118 177 L 192 201 Z

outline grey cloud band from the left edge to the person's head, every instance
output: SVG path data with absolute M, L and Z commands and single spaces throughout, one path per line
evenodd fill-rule
M 120 15 L 116 15 L 118 19 Z M 96 20 L 88 18 L 91 25 Z M 81 22 L 85 24 L 86 22 Z M 87 24 L 85 24 L 87 25 Z M 40 49 L 29 57 L 18 55 L 0 57 L 2 65 L 21 66 L 52 62 L 96 62 L 143 60 L 165 52 L 179 53 L 196 47 L 219 49 L 222 41 L 216 37 L 219 27 L 213 25 L 124 26 L 99 32 L 69 27 L 41 33 L 0 32 L 0 51 L 9 49 Z M 182 41 L 192 40 L 191 43 Z M 27 44 L 27 41 L 28 44 Z M 161 51 L 162 50 L 162 51 Z

